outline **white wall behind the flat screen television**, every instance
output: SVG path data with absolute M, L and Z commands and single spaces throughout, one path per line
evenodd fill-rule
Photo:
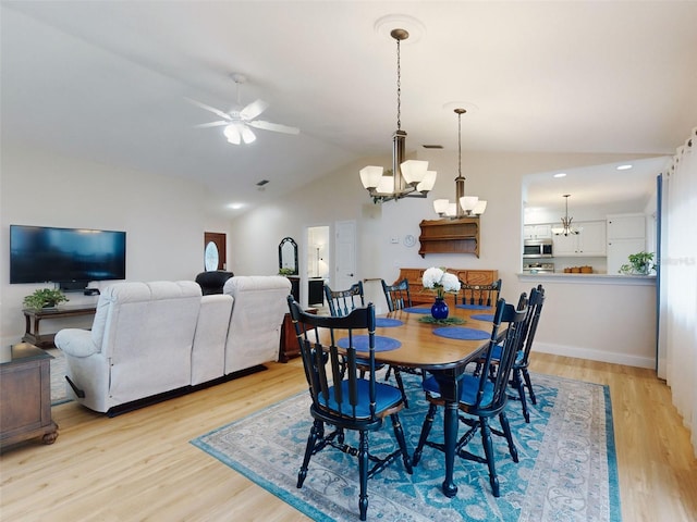
M 10 285 L 10 224 L 125 231 L 130 281 L 193 279 L 203 271 L 204 231 L 228 232 L 225 221 L 207 214 L 207 191 L 195 183 L 5 144 L 0 173 L 3 345 L 24 334 L 24 296 L 49 286 Z M 70 304 L 96 300 L 80 293 L 68 297 Z M 60 327 L 83 324 L 61 321 Z M 42 322 L 41 332 L 51 326 Z

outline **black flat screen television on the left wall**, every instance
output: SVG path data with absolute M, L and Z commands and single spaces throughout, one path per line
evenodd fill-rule
M 76 290 L 125 277 L 125 232 L 10 225 L 10 283 L 51 282 Z

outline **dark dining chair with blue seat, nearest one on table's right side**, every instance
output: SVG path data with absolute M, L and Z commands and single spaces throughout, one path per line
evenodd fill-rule
M 526 296 L 521 299 L 527 300 Z M 455 446 L 455 455 L 463 459 L 486 463 L 489 468 L 489 483 L 494 497 L 500 496 L 499 478 L 496 472 L 496 460 L 493 452 L 493 444 L 491 434 L 505 437 L 509 445 L 509 452 L 514 462 L 518 461 L 518 453 L 511 435 L 511 426 L 505 415 L 505 406 L 508 401 L 506 387 L 513 365 L 515 353 L 517 352 L 524 334 L 524 321 L 527 308 L 516 309 L 513 304 L 508 304 L 504 299 L 497 302 L 496 312 L 492 321 L 491 336 L 486 348 L 484 358 L 484 368 L 479 375 L 464 374 L 457 382 L 460 399 L 457 408 L 466 415 L 458 415 L 461 422 L 468 426 L 466 433 L 457 440 Z M 496 372 L 493 378 L 490 378 L 489 365 L 493 350 L 499 339 L 499 330 L 502 324 L 508 327 L 502 343 L 501 359 L 499 361 L 499 371 Z M 421 459 L 424 446 L 436 448 L 444 451 L 442 442 L 432 442 L 428 439 L 428 435 L 433 424 L 433 418 L 439 406 L 444 406 L 441 398 L 440 388 L 436 377 L 429 377 L 424 381 L 424 391 L 426 391 L 426 400 L 429 402 L 428 413 L 424 420 L 421 434 L 418 445 L 412 458 L 412 465 L 417 465 Z M 499 417 L 501 431 L 489 425 L 489 420 Z M 465 446 L 476 435 L 477 430 L 481 433 L 481 444 L 484 446 L 485 458 L 474 455 L 465 449 Z

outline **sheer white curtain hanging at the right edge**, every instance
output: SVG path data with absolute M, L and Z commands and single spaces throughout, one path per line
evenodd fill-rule
M 697 127 L 663 176 L 659 352 L 697 456 Z

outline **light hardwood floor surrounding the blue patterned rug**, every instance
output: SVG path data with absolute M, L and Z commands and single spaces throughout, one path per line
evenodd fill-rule
M 536 353 L 533 371 L 610 385 L 624 522 L 697 521 L 697 461 L 648 370 Z M 305 389 L 299 361 L 109 419 L 53 408 L 52 446 L 0 456 L 10 521 L 296 521 L 298 511 L 189 440 Z

